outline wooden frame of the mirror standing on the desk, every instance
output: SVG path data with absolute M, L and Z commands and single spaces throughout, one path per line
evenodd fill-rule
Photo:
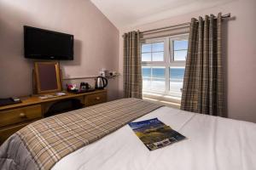
M 56 82 L 57 82 L 57 88 L 50 89 L 50 90 L 42 90 L 41 89 L 41 80 L 39 77 L 39 65 L 54 65 L 55 66 L 55 73 L 56 73 Z M 61 91 L 61 75 L 60 75 L 60 66 L 58 62 L 35 62 L 35 77 L 36 77 L 36 87 L 37 87 L 37 94 L 46 94 L 46 93 L 52 93 L 52 92 L 59 92 Z

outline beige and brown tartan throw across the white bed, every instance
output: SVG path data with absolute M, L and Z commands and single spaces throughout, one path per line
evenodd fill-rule
M 44 118 L 16 134 L 31 153 L 38 169 L 46 170 L 62 157 L 160 106 L 143 99 L 119 99 Z

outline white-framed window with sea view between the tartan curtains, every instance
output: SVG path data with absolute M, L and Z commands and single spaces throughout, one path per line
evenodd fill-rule
M 143 96 L 180 101 L 187 51 L 187 34 L 142 43 Z

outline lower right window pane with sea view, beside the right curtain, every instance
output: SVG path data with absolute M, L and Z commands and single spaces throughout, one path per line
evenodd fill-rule
M 175 97 L 181 97 L 183 88 L 184 67 L 170 67 L 170 93 Z

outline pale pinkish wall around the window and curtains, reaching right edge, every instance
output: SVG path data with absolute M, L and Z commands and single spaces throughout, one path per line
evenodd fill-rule
M 119 71 L 123 72 L 123 39 L 126 31 L 140 31 L 189 22 L 192 17 L 205 14 L 231 13 L 235 20 L 224 26 L 225 92 L 228 117 L 256 122 L 256 1 L 236 0 L 192 14 L 179 15 L 143 26 L 121 30 L 119 36 Z M 119 97 L 123 95 L 122 77 L 119 79 Z

